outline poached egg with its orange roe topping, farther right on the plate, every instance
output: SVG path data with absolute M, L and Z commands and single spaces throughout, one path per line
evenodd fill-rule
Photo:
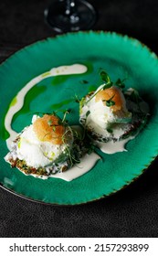
M 119 138 L 123 133 L 123 123 L 131 120 L 132 113 L 127 110 L 120 88 L 112 86 L 103 90 L 102 87 L 103 85 L 100 85 L 97 91 L 86 96 L 80 107 L 80 119 L 84 119 L 85 125 L 95 133 L 105 137 L 111 135 L 111 126 L 117 125 L 113 134 Z

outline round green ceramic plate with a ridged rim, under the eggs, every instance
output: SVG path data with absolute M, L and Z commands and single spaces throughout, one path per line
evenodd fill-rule
M 99 69 L 105 69 L 111 80 L 126 81 L 127 88 L 140 91 L 151 106 L 146 128 L 127 144 L 127 152 L 102 156 L 84 176 L 67 182 L 58 178 L 47 180 L 25 176 L 5 163 L 7 153 L 4 119 L 16 93 L 29 80 L 53 67 L 80 63 L 87 65 L 83 75 L 59 76 L 39 82 L 26 94 L 25 105 L 14 116 L 13 127 L 20 132 L 31 122 L 34 112 L 73 109 L 70 124 L 79 123 L 79 105 L 72 98 L 79 97 L 100 85 Z M 158 150 L 158 60 L 146 47 L 129 37 L 115 33 L 69 33 L 48 38 L 26 47 L 0 66 L 0 183 L 3 187 L 36 201 L 76 205 L 105 197 L 128 185 L 140 176 L 153 161 Z

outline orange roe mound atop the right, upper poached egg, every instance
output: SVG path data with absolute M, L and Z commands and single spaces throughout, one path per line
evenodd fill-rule
M 111 106 L 113 112 L 120 111 L 124 106 L 124 97 L 117 87 L 111 87 L 109 89 L 99 91 L 96 94 L 95 101 L 103 101 L 106 105 L 106 101 L 109 101 L 110 99 L 115 102 L 115 104 Z

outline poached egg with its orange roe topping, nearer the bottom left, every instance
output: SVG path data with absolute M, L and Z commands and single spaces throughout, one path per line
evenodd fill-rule
M 25 160 L 28 166 L 45 167 L 60 155 L 67 155 L 72 143 L 73 134 L 59 122 L 57 116 L 34 115 L 32 124 L 27 126 L 19 134 L 17 142 L 13 143 L 14 158 Z

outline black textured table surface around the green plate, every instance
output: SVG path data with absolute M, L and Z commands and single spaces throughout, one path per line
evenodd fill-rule
M 26 45 L 56 36 L 43 15 L 51 1 L 0 1 L 0 62 Z M 99 15 L 94 30 L 136 37 L 158 54 L 156 0 L 89 2 Z M 73 207 L 35 203 L 0 187 L 0 237 L 157 237 L 157 165 L 158 159 L 129 187 L 111 197 Z

